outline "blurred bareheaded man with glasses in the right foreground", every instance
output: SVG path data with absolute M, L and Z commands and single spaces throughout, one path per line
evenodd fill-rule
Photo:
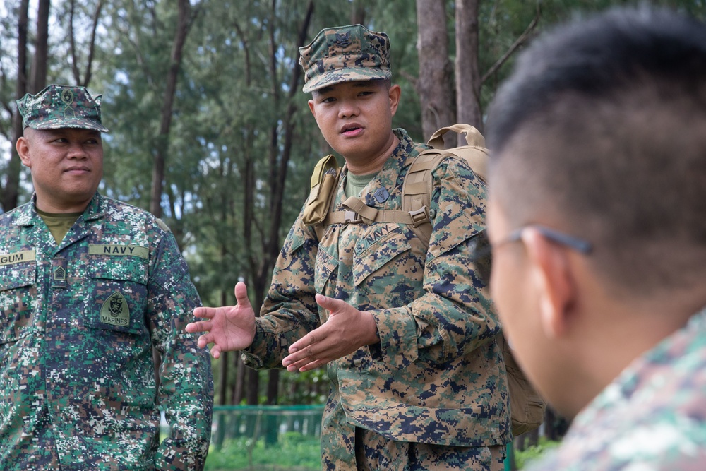
M 706 25 L 643 8 L 555 30 L 488 130 L 493 300 L 573 418 L 532 469 L 706 469 Z

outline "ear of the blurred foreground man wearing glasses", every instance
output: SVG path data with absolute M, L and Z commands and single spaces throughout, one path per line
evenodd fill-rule
M 561 337 L 568 328 L 576 296 L 566 250 L 532 227 L 522 232 L 522 242 L 530 262 L 530 282 L 538 293 L 544 333 L 548 338 Z

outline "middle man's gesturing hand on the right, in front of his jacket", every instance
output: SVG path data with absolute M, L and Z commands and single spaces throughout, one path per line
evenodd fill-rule
M 309 371 L 380 341 L 369 312 L 322 294 L 316 294 L 316 302 L 329 311 L 328 320 L 289 346 L 289 355 L 282 360 L 287 371 Z

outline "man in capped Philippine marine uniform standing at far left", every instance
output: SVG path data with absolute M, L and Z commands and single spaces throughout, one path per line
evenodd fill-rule
M 35 194 L 0 217 L 0 468 L 201 470 L 213 381 L 174 236 L 97 193 L 100 95 L 49 85 L 18 108 Z

